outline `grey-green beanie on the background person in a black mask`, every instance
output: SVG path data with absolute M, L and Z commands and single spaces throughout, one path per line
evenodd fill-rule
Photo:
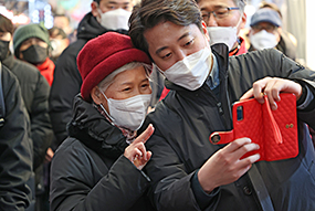
M 39 23 L 30 23 L 27 25 L 21 25 L 13 33 L 13 49 L 15 56 L 19 54 L 19 49 L 22 42 L 24 42 L 30 38 L 41 39 L 42 41 L 48 43 L 49 48 L 51 46 L 50 35 L 45 27 Z

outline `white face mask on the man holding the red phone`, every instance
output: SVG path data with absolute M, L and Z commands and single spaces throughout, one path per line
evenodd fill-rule
M 170 82 L 182 86 L 189 91 L 196 91 L 202 86 L 211 67 L 211 50 L 204 48 L 183 60 L 175 63 L 171 67 L 162 72 L 157 65 L 161 74 Z

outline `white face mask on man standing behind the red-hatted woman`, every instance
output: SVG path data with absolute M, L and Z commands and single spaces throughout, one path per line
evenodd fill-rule
M 128 31 L 128 19 L 132 15 L 132 12 L 122 8 L 104 13 L 98 9 L 98 12 L 101 14 L 101 19 L 98 18 L 97 20 L 104 28 L 108 30 L 123 29 Z

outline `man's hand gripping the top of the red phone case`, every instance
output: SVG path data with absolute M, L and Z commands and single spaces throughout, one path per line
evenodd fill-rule
M 263 104 L 263 95 L 265 94 L 271 109 L 275 110 L 277 108 L 276 102 L 281 101 L 279 95 L 281 92 L 295 94 L 297 101 L 302 95 L 302 86 L 291 80 L 264 77 L 263 80 L 256 81 L 253 87 L 241 97 L 241 101 L 253 96 L 259 103 Z

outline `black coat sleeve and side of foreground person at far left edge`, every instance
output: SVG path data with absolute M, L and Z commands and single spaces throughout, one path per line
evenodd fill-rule
M 1 65 L 1 64 L 0 64 Z M 0 210 L 25 210 L 31 201 L 27 186 L 32 173 L 30 120 L 17 77 L 2 65 L 4 125 L 0 127 Z

